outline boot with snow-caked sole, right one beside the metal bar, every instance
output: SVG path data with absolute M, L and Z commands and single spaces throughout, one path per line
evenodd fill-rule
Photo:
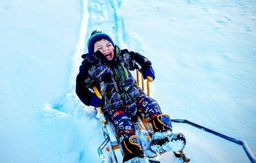
M 172 122 L 169 115 L 157 115 L 152 120 L 155 131 L 151 139 L 150 150 L 163 152 L 177 152 L 183 150 L 186 145 L 185 136 L 181 133 L 172 132 Z

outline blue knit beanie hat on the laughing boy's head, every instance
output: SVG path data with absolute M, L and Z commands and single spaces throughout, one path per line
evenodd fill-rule
M 107 39 L 113 46 L 115 46 L 113 40 L 108 36 L 108 34 L 101 31 L 93 31 L 91 37 L 87 41 L 88 53 L 94 52 L 94 43 L 99 39 Z

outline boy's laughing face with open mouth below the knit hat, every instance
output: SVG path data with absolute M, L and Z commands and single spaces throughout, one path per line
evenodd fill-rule
M 94 52 L 100 51 L 108 60 L 115 56 L 115 48 L 107 39 L 100 39 L 94 43 Z

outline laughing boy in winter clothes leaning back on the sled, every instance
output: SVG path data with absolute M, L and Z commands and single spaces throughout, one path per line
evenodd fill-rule
M 87 46 L 88 53 L 82 55 L 84 60 L 76 79 L 76 93 L 87 106 L 102 106 L 102 111 L 113 120 L 125 153 L 124 162 L 145 157 L 131 122 L 136 114 L 147 117 L 152 123 L 155 132 L 150 146 L 152 151 L 182 150 L 186 144 L 184 135 L 171 132 L 169 115 L 163 115 L 156 100 L 143 94 L 129 72 L 140 67 L 143 78 L 150 76 L 154 80 L 150 60 L 140 53 L 120 50 L 103 32 L 93 31 Z M 103 99 L 90 91 L 93 86 L 98 87 Z M 178 141 L 182 145 L 175 149 L 177 145 L 173 146 L 173 142 Z

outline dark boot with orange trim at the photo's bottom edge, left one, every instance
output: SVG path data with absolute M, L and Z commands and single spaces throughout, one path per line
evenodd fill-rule
M 124 150 L 123 162 L 147 162 L 147 157 L 141 148 L 141 141 L 137 135 L 130 136 L 128 139 L 122 141 Z

